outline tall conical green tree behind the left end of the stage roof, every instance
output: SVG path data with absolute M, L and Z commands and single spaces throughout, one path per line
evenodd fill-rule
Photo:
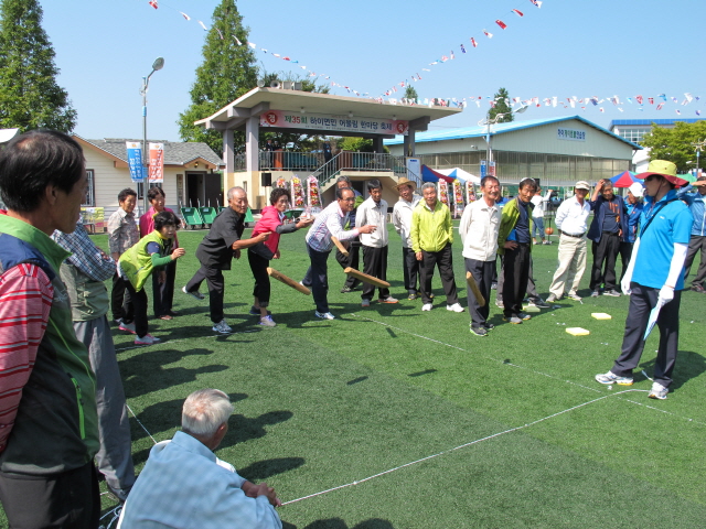
M 194 121 L 206 118 L 228 102 L 255 88 L 257 66 L 253 50 L 246 44 L 248 29 L 235 0 L 222 0 L 213 10 L 212 29 L 203 45 L 203 63 L 190 95 L 191 105 L 179 115 L 179 134 L 184 141 L 203 141 L 215 152 L 223 152 L 223 134 L 206 130 Z M 217 31 L 216 31 L 217 30 Z M 236 39 L 242 43 L 238 45 Z M 235 144 L 243 145 L 243 132 L 235 133 Z

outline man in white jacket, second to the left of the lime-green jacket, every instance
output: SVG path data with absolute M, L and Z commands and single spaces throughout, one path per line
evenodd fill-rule
M 387 202 L 383 201 L 383 186 L 379 180 L 367 182 L 367 193 L 370 196 L 357 208 L 356 222 L 364 226 L 370 224 L 375 226 L 375 230 L 370 234 L 361 234 L 363 245 L 363 272 L 373 276 L 382 281 L 387 279 Z M 378 287 L 381 303 L 397 303 L 397 300 L 389 295 L 389 289 Z M 361 294 L 362 305 L 371 306 L 371 301 L 375 294 L 375 285 L 364 283 L 363 294 Z

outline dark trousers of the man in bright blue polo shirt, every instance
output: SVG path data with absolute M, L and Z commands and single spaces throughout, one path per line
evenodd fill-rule
M 611 369 L 620 377 L 632 376 L 638 367 L 644 348 L 644 332 L 648 328 L 650 312 L 657 303 L 660 289 L 651 289 L 638 283 L 630 283 L 630 306 L 625 319 L 625 334 L 622 338 L 620 357 Z M 660 310 L 656 326 L 660 327 L 660 347 L 654 364 L 653 379 L 665 388 L 672 384 L 672 371 L 676 361 L 680 345 L 680 303 L 682 291 L 674 292 L 674 299 Z M 653 331 L 654 332 L 654 331 Z

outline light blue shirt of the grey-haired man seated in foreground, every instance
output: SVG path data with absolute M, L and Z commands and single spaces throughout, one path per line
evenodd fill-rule
M 153 446 L 130 497 L 122 528 L 281 529 L 266 496 L 248 498 L 244 478 L 216 464 L 215 454 L 195 438 L 176 432 L 171 443 Z

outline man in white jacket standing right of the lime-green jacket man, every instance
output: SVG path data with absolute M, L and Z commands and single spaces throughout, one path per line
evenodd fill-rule
M 493 328 L 488 323 L 490 313 L 490 285 L 498 257 L 498 231 L 500 230 L 500 208 L 496 205 L 500 195 L 500 182 L 494 176 L 481 181 L 483 197 L 470 203 L 463 209 L 459 235 L 463 244 L 466 271 L 471 272 L 478 289 L 485 299 L 481 306 L 470 287 L 468 291 L 468 312 L 471 314 L 471 334 L 488 336 Z

